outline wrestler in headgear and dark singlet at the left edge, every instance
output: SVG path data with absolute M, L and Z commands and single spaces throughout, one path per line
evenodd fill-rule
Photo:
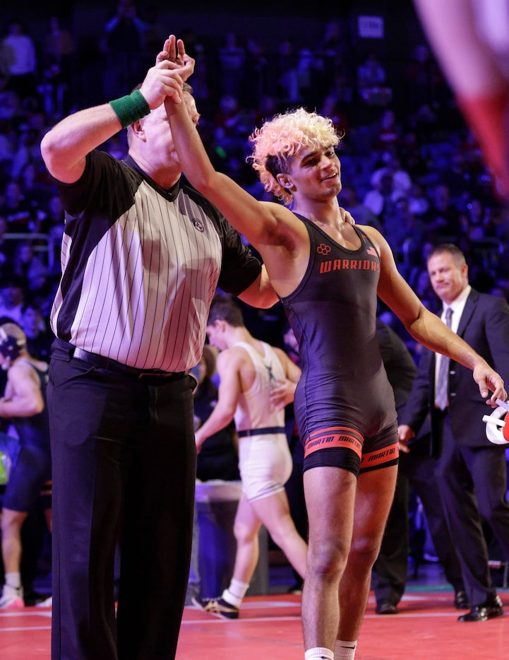
M 51 479 L 49 421 L 46 405 L 48 365 L 27 350 L 23 329 L 0 324 L 0 365 L 7 373 L 0 417 L 9 418 L 19 438 L 19 452 L 6 485 L 1 515 L 1 550 L 5 584 L 0 608 L 23 607 L 21 528 L 44 485 Z M 51 504 L 44 502 L 51 531 Z

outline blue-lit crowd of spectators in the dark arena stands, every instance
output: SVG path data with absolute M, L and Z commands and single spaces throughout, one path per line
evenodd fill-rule
M 97 102 L 136 85 L 159 48 L 162 27 L 157 16 L 138 14 L 132 0 L 112 8 L 97 35 Z M 493 195 L 479 148 L 426 44 L 409 53 L 405 79 L 396 81 L 377 54 L 355 59 L 340 22 L 325 23 L 315 47 L 287 39 L 276 54 L 254 36 L 225 33 L 206 46 L 191 28 L 182 37 L 197 59 L 191 83 L 202 113 L 200 133 L 216 167 L 261 199 L 265 193 L 246 163 L 249 134 L 261 119 L 289 107 L 316 109 L 344 133 L 341 204 L 357 223 L 383 232 L 426 306 L 436 309 L 426 254 L 450 240 L 467 255 L 475 288 L 509 295 L 508 209 Z M 48 16 L 37 36 L 18 18 L 6 20 L 0 34 L 0 312 L 11 305 L 15 279 L 22 291 L 18 304 L 34 305 L 46 330 L 64 218 L 40 140 L 65 114 L 90 103 L 83 90 L 95 59 L 80 56 L 77 42 L 56 16 Z M 397 102 L 401 84 L 405 105 Z M 104 149 L 117 157 L 126 153 L 124 133 Z M 282 345 L 279 310 L 249 311 L 250 321 L 258 336 Z

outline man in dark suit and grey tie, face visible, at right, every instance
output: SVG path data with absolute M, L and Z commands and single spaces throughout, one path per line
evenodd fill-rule
M 427 266 L 433 290 L 443 302 L 445 322 L 507 381 L 507 302 L 470 287 L 465 256 L 453 244 L 433 248 Z M 486 407 L 479 400 L 477 388 L 469 383 L 469 370 L 443 360 L 446 358 L 429 350 L 421 355 L 417 378 L 400 416 L 400 448 L 403 452 L 407 450 L 407 442 L 431 411 L 436 478 L 472 607 L 459 620 L 485 621 L 503 614 L 501 600 L 491 581 L 482 522 L 489 524 L 509 560 L 505 450 L 486 439 L 482 421 Z M 445 387 L 442 387 L 441 364 L 447 367 L 443 370 Z

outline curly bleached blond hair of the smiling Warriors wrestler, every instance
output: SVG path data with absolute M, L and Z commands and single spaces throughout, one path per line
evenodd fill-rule
M 332 119 L 299 107 L 285 114 L 276 114 L 249 136 L 254 146 L 247 160 L 258 172 L 265 190 L 288 205 L 292 194 L 277 182 L 276 177 L 281 172 L 289 172 L 289 158 L 302 147 L 311 150 L 335 147 L 341 138 Z

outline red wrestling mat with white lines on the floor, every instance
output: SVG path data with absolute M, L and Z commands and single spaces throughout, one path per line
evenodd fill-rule
M 452 591 L 407 592 L 396 615 L 366 610 L 356 660 L 479 660 L 508 657 L 509 593 L 500 591 L 507 614 L 484 623 L 458 623 Z M 177 660 L 303 660 L 301 596 L 247 598 L 238 620 L 188 607 Z M 0 611 L 1 660 L 49 660 L 51 610 Z

